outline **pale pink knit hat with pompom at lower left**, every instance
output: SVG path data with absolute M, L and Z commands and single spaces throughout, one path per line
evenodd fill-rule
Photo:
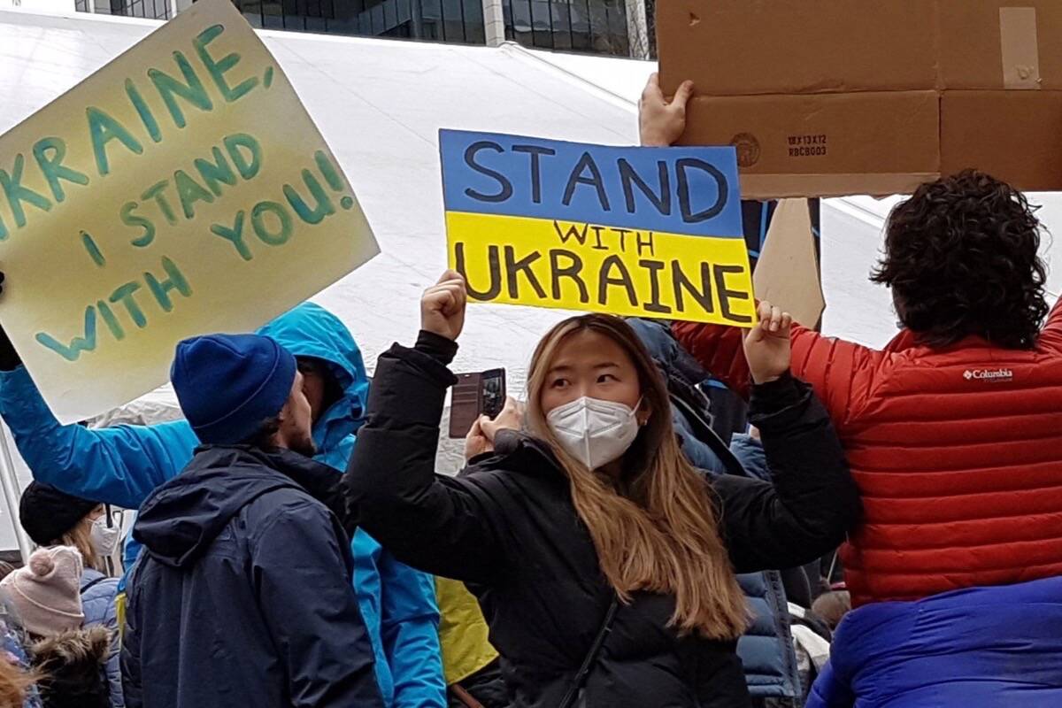
M 41 548 L 30 563 L 0 581 L 6 601 L 31 634 L 55 637 L 85 621 L 81 606 L 84 565 L 75 548 Z

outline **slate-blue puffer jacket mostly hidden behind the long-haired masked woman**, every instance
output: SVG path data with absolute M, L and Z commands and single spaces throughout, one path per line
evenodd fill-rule
M 666 327 L 644 320 L 628 322 L 646 344 L 649 353 L 666 377 L 679 377 L 686 383 L 696 383 L 707 378 L 700 364 L 679 346 Z M 729 453 L 721 441 L 719 443 L 721 449 L 717 453 L 709 445 L 698 438 L 682 412 L 673 408 L 672 417 L 675 432 L 682 441 L 682 451 L 695 467 L 713 476 L 727 470 L 743 470 L 744 460 Z M 729 464 L 720 459 L 720 453 L 730 455 Z M 800 696 L 802 691 L 796 653 L 789 631 L 789 608 L 781 574 L 772 570 L 738 575 L 737 580 L 749 599 L 749 607 L 753 615 L 752 625 L 737 644 L 737 653 L 744 666 L 744 677 L 750 693 L 753 697 L 764 698 Z

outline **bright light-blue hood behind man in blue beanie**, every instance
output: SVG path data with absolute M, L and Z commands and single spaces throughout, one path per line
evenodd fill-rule
M 259 329 L 258 333 L 272 336 L 296 357 L 313 357 L 331 367 L 332 376 L 343 388 L 343 398 L 318 418 L 313 442 L 321 451 L 319 461 L 345 470 L 353 444 L 347 438 L 364 422 L 369 402 L 365 364 L 350 331 L 320 305 L 304 303 Z

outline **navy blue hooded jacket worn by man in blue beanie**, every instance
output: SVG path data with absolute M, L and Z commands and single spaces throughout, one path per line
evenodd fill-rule
M 148 498 L 129 708 L 382 708 L 349 541 L 310 494 L 340 479 L 290 451 L 208 447 Z

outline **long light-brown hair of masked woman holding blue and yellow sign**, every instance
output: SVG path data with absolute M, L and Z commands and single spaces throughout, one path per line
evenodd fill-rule
M 565 340 L 592 331 L 631 358 L 651 415 L 623 456 L 621 479 L 595 473 L 567 454 L 546 424 L 542 394 Z M 663 377 L 634 330 L 618 317 L 582 315 L 543 338 L 528 375 L 528 427 L 546 441 L 568 476 L 571 499 L 620 599 L 637 590 L 673 594 L 671 625 L 683 634 L 734 639 L 749 614 L 719 534 L 708 485 L 686 461 L 671 425 Z

